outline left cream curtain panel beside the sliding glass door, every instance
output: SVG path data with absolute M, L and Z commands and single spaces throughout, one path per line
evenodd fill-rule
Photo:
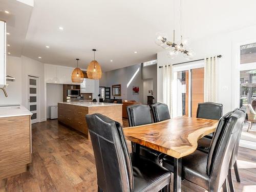
M 170 117 L 173 117 L 172 92 L 173 92 L 173 65 L 163 66 L 163 103 L 168 105 Z

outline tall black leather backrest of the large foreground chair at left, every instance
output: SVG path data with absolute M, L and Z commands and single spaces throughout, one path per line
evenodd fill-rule
M 101 114 L 86 115 L 93 145 L 98 186 L 104 192 L 132 191 L 131 157 L 120 123 Z

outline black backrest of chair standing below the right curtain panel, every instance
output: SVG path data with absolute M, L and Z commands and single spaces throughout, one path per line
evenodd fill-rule
M 216 119 L 222 116 L 223 105 L 214 102 L 198 103 L 197 118 Z

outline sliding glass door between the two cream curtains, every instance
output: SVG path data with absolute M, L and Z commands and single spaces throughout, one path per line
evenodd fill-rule
M 198 103 L 204 102 L 204 63 L 174 66 L 173 116 L 196 117 Z

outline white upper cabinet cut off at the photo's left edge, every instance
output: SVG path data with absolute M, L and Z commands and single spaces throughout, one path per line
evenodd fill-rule
M 0 86 L 6 84 L 6 23 L 0 20 Z

